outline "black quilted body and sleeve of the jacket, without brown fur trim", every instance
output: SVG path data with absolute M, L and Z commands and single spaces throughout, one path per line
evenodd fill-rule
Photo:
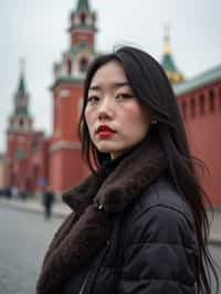
M 125 219 L 114 222 L 110 241 L 101 252 L 102 258 L 92 263 L 83 293 L 196 293 L 193 220 L 186 203 L 165 180 L 151 185 Z M 83 273 L 85 276 L 84 270 Z M 78 283 L 73 279 L 64 293 L 77 291 Z

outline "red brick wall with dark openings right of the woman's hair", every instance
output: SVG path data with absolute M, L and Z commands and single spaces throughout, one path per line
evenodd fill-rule
M 201 159 L 210 175 L 201 182 L 211 202 L 221 207 L 221 82 L 180 96 L 188 140 L 193 156 Z

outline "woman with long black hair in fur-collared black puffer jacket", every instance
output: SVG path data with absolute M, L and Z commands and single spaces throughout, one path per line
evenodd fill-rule
M 204 195 L 161 66 L 130 46 L 98 56 L 80 136 L 93 174 L 63 196 L 38 294 L 211 293 Z

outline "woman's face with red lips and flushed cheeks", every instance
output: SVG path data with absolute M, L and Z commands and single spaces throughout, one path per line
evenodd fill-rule
M 112 61 L 94 74 L 88 90 L 85 119 L 101 153 L 117 158 L 143 140 L 150 114 L 138 104 L 120 63 Z

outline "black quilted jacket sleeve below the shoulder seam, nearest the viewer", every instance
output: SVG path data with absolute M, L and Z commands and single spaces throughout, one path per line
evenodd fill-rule
M 179 211 L 156 206 L 130 221 L 118 294 L 194 294 L 194 225 Z

